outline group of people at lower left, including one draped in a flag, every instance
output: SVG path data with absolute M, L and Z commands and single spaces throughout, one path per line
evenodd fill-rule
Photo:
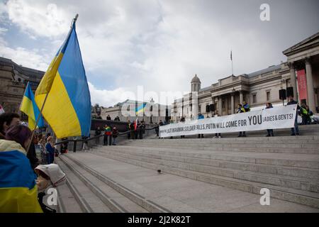
M 55 152 L 49 134 L 33 134 L 18 114 L 0 114 L 0 212 L 55 212 L 42 201 L 45 189 L 65 182 Z

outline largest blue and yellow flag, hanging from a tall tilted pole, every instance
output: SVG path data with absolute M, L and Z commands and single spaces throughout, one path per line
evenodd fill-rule
M 75 21 L 35 92 L 43 117 L 57 138 L 89 135 L 91 96 L 86 81 Z

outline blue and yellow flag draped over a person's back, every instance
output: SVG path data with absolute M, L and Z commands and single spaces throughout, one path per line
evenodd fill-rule
M 0 147 L 9 148 L 10 145 L 5 143 L 12 141 L 0 140 Z M 0 213 L 42 213 L 35 179 L 36 175 L 23 151 L 1 149 Z

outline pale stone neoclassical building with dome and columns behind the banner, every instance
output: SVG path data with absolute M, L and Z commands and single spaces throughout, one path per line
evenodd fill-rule
M 181 116 L 186 119 L 196 118 L 198 113 L 205 117 L 216 112 L 220 116 L 235 114 L 237 104 L 242 104 L 243 101 L 250 104 L 252 109 L 260 109 L 266 102 L 282 105 L 279 90 L 287 87 L 293 87 L 294 97 L 299 103 L 306 103 L 313 112 L 318 112 L 319 33 L 293 45 L 283 53 L 288 57 L 287 62 L 249 74 L 218 79 L 217 83 L 208 87 L 201 88 L 201 80 L 195 75 L 191 79 L 191 93 L 172 104 L 173 121 L 179 121 Z M 306 82 L 300 80 L 303 76 L 300 74 L 298 84 L 299 72 L 305 72 Z M 306 99 L 305 94 L 301 97 L 299 92 L 307 93 Z M 214 111 L 208 110 L 208 106 L 212 105 Z

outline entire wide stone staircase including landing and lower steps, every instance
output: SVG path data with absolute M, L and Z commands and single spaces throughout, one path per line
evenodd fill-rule
M 259 198 L 260 190 L 267 188 L 272 201 L 298 207 L 293 211 L 319 211 L 319 135 L 126 140 L 89 153 L 60 155 L 57 164 L 67 173 L 67 185 L 58 188 L 64 195 L 62 212 L 231 211 L 210 208 L 209 201 L 196 207 L 184 202 L 187 199 L 181 203 L 167 187 L 183 179 L 206 190 L 220 187 L 220 196 L 230 190 Z M 159 179 L 156 170 L 167 181 Z M 162 182 L 152 188 L 155 179 Z M 179 190 L 184 193 L 191 186 Z M 261 209 L 259 204 L 254 207 L 235 211 Z

